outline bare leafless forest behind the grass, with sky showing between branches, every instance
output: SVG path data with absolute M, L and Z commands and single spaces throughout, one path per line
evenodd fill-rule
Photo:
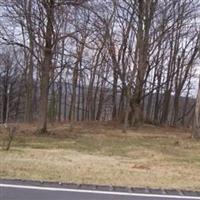
M 115 121 L 200 138 L 198 0 L 0 1 L 0 122 Z

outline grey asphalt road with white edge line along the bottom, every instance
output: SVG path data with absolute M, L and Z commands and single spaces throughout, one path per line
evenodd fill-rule
M 0 181 L 0 200 L 200 200 L 200 196 L 70 189 Z

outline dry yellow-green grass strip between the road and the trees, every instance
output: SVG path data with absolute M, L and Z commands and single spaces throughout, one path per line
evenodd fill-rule
M 200 190 L 200 142 L 187 131 L 60 124 L 37 136 L 19 127 L 10 151 L 0 150 L 0 178 Z

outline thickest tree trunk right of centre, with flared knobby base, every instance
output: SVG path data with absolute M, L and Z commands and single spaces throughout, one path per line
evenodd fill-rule
M 129 114 L 129 121 L 131 122 L 131 125 L 140 125 L 141 123 L 143 123 L 143 85 L 145 81 L 145 74 L 149 66 L 149 32 L 151 22 L 154 17 L 156 4 L 157 1 L 138 1 L 138 70 L 135 92 L 134 96 L 131 99 L 131 112 Z

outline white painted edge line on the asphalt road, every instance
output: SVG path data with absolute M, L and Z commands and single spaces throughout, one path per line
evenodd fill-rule
M 194 196 L 178 196 L 178 195 L 160 195 L 160 194 L 140 194 L 140 193 L 128 193 L 128 192 L 112 192 L 112 191 L 98 191 L 98 190 L 82 190 L 82 189 L 67 189 L 67 188 L 55 188 L 55 187 L 39 187 L 39 186 L 27 186 L 27 185 L 12 185 L 12 184 L 0 184 L 2 188 L 17 188 L 17 189 L 29 189 L 29 190 L 46 190 L 46 191 L 60 191 L 60 192 L 77 192 L 77 193 L 90 193 L 90 194 L 105 194 L 105 195 L 120 195 L 120 196 L 137 196 L 137 197 L 154 197 L 154 198 L 174 198 L 174 199 L 198 199 L 200 197 Z

